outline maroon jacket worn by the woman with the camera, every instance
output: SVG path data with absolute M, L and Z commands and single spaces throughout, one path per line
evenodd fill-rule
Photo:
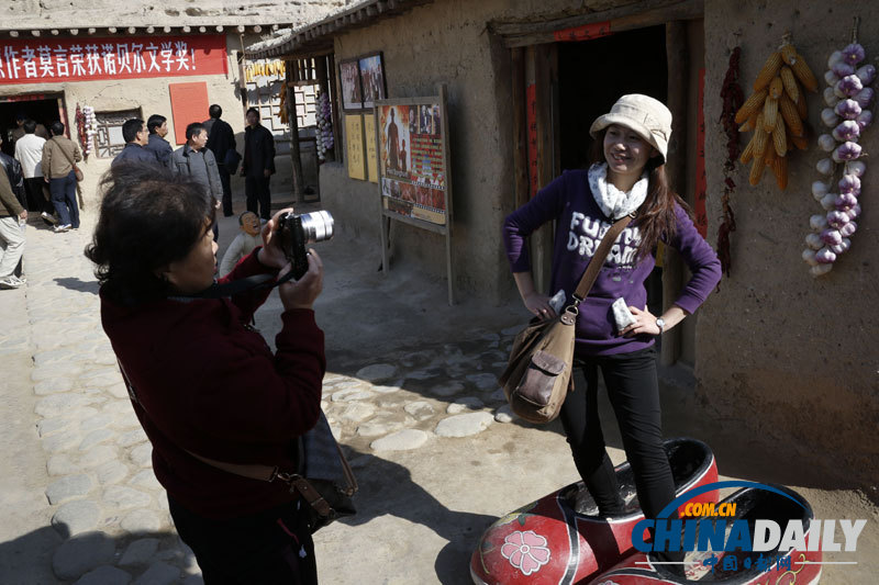
M 256 252 L 220 282 L 269 272 Z M 269 291 L 121 306 L 101 294 L 101 320 L 125 368 L 134 412 L 153 443 L 156 477 L 177 502 L 209 518 L 294 499 L 281 482 L 230 474 L 187 453 L 296 469 L 294 439 L 318 420 L 326 369 L 314 312 L 291 310 L 271 353 L 244 327 Z

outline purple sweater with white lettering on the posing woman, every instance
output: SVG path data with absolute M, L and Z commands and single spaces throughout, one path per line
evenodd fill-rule
M 675 304 L 689 314 L 699 308 L 721 279 L 717 255 L 699 235 L 687 212 L 675 205 L 677 233 L 671 241 L 692 278 Z M 503 241 L 513 272 L 528 272 L 525 238 L 544 223 L 558 220 L 553 251 L 553 280 L 549 294 L 564 289 L 567 300 L 577 289 L 586 267 L 602 236 L 612 225 L 592 198 L 589 175 L 586 170 L 565 171 L 542 189 L 528 203 L 510 214 L 503 223 Z M 620 296 L 628 306 L 645 307 L 647 291 L 644 281 L 656 260 L 647 255 L 637 261 L 641 233 L 637 222 L 632 222 L 620 235 L 604 266 L 598 274 L 589 296 L 580 304 L 577 318 L 578 350 L 590 356 L 609 356 L 644 349 L 654 344 L 650 335 L 624 338 L 616 335 L 611 304 Z

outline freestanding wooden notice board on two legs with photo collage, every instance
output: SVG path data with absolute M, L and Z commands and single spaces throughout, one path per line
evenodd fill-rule
M 453 304 L 446 88 L 441 86 L 435 97 L 378 100 L 374 111 L 381 216 L 445 236 L 448 303 Z M 382 221 L 386 274 L 389 236 L 389 223 Z

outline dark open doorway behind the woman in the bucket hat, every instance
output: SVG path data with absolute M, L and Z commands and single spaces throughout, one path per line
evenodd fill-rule
M 592 144 L 589 127 L 621 95 L 644 93 L 667 102 L 665 26 L 559 43 L 558 90 L 561 169 L 588 168 Z M 648 310 L 661 314 L 663 269 L 654 269 L 644 284 Z

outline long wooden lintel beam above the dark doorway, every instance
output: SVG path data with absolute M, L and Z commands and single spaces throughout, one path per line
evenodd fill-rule
M 703 14 L 704 0 L 654 0 L 538 23 L 489 23 L 489 30 L 503 36 L 505 46 L 520 47 L 555 43 L 558 31 L 599 22 L 610 22 L 611 32 L 620 33 L 676 20 L 698 19 Z

